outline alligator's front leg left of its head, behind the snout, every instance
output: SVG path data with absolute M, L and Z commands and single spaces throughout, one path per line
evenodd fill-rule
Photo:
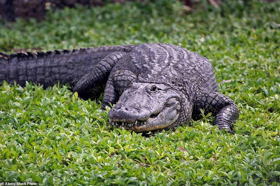
M 123 91 L 130 88 L 132 82 L 137 79 L 134 73 L 127 70 L 119 70 L 110 75 L 105 87 L 101 109 L 105 110 L 105 106 L 110 106 L 110 103 L 116 104 Z

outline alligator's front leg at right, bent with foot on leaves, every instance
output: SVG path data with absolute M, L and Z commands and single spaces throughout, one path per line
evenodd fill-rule
M 233 123 L 238 119 L 239 113 L 234 101 L 219 92 L 204 92 L 196 96 L 192 115 L 200 115 L 200 109 L 205 114 L 212 113 L 215 116 L 213 124 L 219 129 L 226 129 L 233 133 Z

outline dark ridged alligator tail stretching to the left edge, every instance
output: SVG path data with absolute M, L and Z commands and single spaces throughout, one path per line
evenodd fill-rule
M 132 45 L 88 47 L 48 52 L 21 52 L 7 55 L 0 52 L 0 83 L 26 81 L 52 86 L 57 82 L 73 87 L 105 56 L 115 51 L 130 51 Z

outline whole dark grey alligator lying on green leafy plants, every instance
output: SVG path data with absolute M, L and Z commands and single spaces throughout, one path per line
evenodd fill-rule
M 233 133 L 234 101 L 219 93 L 208 59 L 173 44 L 88 47 L 48 52 L 0 53 L 0 81 L 52 86 L 69 83 L 83 99 L 102 92 L 112 128 L 135 132 L 173 129 L 205 114 Z

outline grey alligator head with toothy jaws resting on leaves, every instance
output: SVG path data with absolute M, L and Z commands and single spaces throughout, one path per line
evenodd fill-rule
M 135 132 L 171 128 L 179 117 L 180 102 L 179 93 L 169 86 L 133 83 L 109 112 L 111 127 Z

